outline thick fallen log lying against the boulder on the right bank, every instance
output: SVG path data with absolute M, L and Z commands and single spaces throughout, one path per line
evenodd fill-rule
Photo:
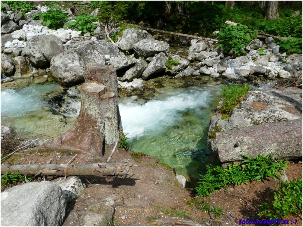
M 273 154 L 281 159 L 302 157 L 302 118 L 216 133 L 221 163 L 243 161 L 241 154 Z

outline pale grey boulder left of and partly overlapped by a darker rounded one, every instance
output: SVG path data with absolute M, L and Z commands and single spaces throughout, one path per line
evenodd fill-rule
M 49 61 L 44 57 L 39 48 L 39 37 L 33 37 L 27 42 L 24 48 L 24 54 L 26 54 L 33 64 L 33 66 L 38 68 L 44 68 L 49 65 Z

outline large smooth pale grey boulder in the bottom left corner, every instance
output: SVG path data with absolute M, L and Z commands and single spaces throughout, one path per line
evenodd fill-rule
M 1 193 L 1 226 L 61 226 L 66 200 L 49 181 L 14 186 Z

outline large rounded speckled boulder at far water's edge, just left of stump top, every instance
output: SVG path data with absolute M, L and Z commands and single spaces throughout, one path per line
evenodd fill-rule
M 84 67 L 76 49 L 68 49 L 51 60 L 51 73 L 64 86 L 74 86 L 84 82 Z

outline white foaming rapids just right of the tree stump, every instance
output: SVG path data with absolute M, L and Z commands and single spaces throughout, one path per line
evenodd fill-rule
M 171 93 L 166 98 L 151 100 L 144 105 L 120 104 L 123 131 L 129 138 L 139 138 L 164 130 L 182 118 L 182 112 L 208 106 L 209 91 L 193 89 Z

